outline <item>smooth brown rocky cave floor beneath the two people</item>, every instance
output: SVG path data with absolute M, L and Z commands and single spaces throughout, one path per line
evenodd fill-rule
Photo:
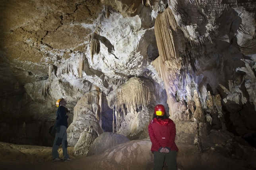
M 177 143 L 179 170 L 255 170 L 256 149 L 239 144 L 243 154 L 230 155 L 226 146 L 203 149 L 200 153 L 195 145 Z M 52 162 L 51 147 L 14 145 L 0 142 L 1 170 L 153 170 L 153 154 L 149 139 L 128 141 L 111 147 L 107 151 L 86 157 L 76 157 L 74 147 L 68 152 L 74 160 Z M 59 150 L 62 154 L 61 149 Z M 167 170 L 165 166 L 163 170 Z

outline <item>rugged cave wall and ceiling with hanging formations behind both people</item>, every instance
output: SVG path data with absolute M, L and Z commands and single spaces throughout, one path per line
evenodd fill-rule
M 97 102 L 82 106 L 102 132 L 146 138 L 138 121 L 147 124 L 162 103 L 175 120 L 200 113 L 209 127 L 254 142 L 254 1 L 0 2 L 1 141 L 50 146 L 60 97 L 71 138 L 87 115 L 76 108 L 97 89 Z M 137 78 L 145 84 L 127 85 Z

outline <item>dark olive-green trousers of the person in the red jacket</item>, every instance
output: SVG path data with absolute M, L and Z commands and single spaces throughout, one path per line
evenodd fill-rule
M 162 170 L 164 162 L 166 161 L 168 170 L 177 169 L 177 151 L 170 151 L 169 153 L 154 152 L 154 170 Z

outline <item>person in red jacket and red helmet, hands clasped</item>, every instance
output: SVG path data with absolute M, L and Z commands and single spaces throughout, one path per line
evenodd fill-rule
M 151 151 L 154 154 L 154 170 L 162 170 L 165 160 L 168 170 L 176 170 L 178 151 L 175 144 L 176 128 L 173 120 L 166 115 L 163 105 L 155 106 L 148 132 L 152 142 Z

